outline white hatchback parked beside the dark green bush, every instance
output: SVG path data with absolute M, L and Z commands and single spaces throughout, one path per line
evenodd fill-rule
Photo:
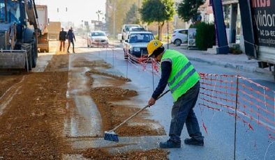
M 188 29 L 175 29 L 172 33 L 171 43 L 176 46 L 187 44 L 188 42 Z

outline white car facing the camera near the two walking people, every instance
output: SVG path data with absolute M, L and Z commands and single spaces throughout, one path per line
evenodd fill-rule
M 87 36 L 87 47 L 108 47 L 109 42 L 104 31 L 91 31 Z

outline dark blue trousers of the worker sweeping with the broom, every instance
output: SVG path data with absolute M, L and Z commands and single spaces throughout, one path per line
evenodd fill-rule
M 200 81 L 190 88 L 184 95 L 181 95 L 172 106 L 172 120 L 170 124 L 169 136 L 172 141 L 180 142 L 181 131 L 186 123 L 186 128 L 190 137 L 197 141 L 203 141 L 202 133 L 193 108 L 200 93 Z

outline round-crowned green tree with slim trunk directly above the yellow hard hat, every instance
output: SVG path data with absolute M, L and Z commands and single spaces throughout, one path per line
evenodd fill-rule
M 158 39 L 162 40 L 162 29 L 165 21 L 172 20 L 174 15 L 173 0 L 144 0 L 140 9 L 142 21 L 148 24 L 158 22 Z

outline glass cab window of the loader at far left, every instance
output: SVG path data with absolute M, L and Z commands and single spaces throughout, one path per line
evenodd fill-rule
M 0 0 L 0 11 L 0 22 L 5 22 L 6 14 L 8 22 L 20 22 L 20 6 L 18 1 L 7 1 L 5 9 L 5 1 Z

